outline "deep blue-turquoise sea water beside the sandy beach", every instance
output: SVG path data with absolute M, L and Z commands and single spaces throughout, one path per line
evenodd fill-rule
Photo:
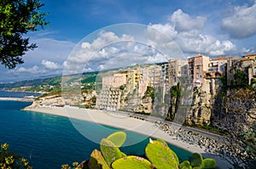
M 34 94 L 0 91 L 0 97 L 5 98 L 22 98 Z M 0 101 L 0 143 L 9 144 L 9 150 L 24 156 L 34 169 L 61 169 L 63 164 L 72 165 L 74 161 L 81 162 L 89 159 L 94 149 L 100 149 L 99 144 L 84 137 L 73 126 L 74 122 L 82 123 L 85 131 L 95 134 L 102 133 L 96 131 L 101 128 L 98 129 L 95 123 L 70 121 L 69 118 L 63 116 L 22 110 L 30 104 L 32 103 Z M 119 131 L 118 128 L 113 129 Z M 143 156 L 149 138 L 136 132 L 126 132 L 126 134 L 125 142 L 129 142 L 131 139 L 141 141 L 121 147 L 121 151 L 126 155 Z M 102 138 L 106 137 L 103 135 Z M 190 152 L 172 144 L 169 146 L 177 153 L 181 161 L 189 160 Z

